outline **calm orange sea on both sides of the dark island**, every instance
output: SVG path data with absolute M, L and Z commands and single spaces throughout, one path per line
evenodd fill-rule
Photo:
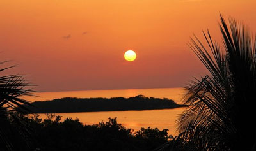
M 27 97 L 29 101 L 45 101 L 62 97 L 132 97 L 142 94 L 146 97 L 166 97 L 173 99 L 178 104 L 184 96 L 183 88 L 157 88 L 157 89 L 122 89 L 122 90 L 85 90 L 85 91 L 67 91 L 67 92 L 41 92 L 40 97 Z M 97 124 L 102 120 L 105 122 L 108 117 L 117 117 L 118 123 L 123 126 L 138 131 L 141 127 L 152 127 L 159 129 L 169 129 L 168 133 L 176 135 L 175 120 L 178 115 L 184 111 L 184 108 L 164 109 L 164 110 L 144 110 L 144 111 L 100 111 L 89 113 L 56 113 L 62 116 L 62 119 L 72 117 L 78 118 L 83 124 Z M 43 119 L 46 117 L 40 114 Z

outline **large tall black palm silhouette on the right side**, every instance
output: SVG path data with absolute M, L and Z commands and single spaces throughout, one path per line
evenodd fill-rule
M 186 86 L 189 107 L 177 120 L 179 150 L 256 150 L 255 38 L 240 22 L 220 15 L 223 47 L 204 33 L 189 47 L 211 73 Z

